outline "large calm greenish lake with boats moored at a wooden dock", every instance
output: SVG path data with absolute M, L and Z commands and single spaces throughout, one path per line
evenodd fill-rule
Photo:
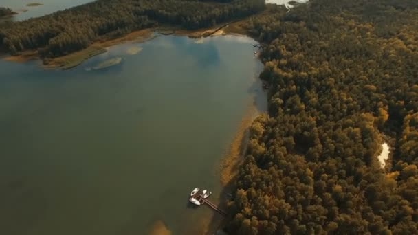
M 0 60 L 0 234 L 200 231 L 213 212 L 190 191 L 219 201 L 219 162 L 267 105 L 252 43 L 158 36 L 67 71 Z

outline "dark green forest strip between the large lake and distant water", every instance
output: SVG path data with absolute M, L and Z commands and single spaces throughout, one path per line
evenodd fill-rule
M 98 0 L 1 27 L 0 49 L 12 55 L 37 50 L 43 58 L 85 49 L 99 38 L 158 25 L 195 30 L 263 10 L 263 0 Z

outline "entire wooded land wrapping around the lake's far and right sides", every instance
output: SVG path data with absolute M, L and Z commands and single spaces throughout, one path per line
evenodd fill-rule
M 250 122 L 223 179 L 224 230 L 418 234 L 417 15 L 412 0 L 312 0 L 290 12 L 258 0 L 95 1 L 12 23 L 0 47 L 47 65 L 81 53 L 75 66 L 85 50 L 162 28 L 255 38 L 268 112 Z M 394 149 L 382 166 L 386 142 Z

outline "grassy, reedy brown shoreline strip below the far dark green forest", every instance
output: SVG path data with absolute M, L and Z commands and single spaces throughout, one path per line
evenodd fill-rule
M 31 60 L 40 60 L 43 64 L 43 69 L 72 69 L 78 65 L 81 65 L 83 62 L 85 62 L 85 60 L 88 60 L 89 58 L 107 52 L 108 47 L 129 42 L 144 43 L 157 37 L 158 35 L 155 35 L 155 33 L 162 35 L 188 36 L 189 38 L 206 38 L 210 36 L 223 36 L 227 34 L 249 36 L 248 32 L 245 32 L 245 30 L 243 30 L 243 28 L 239 25 L 239 23 L 242 23 L 246 20 L 247 19 L 243 19 L 241 21 L 232 21 L 222 25 L 216 25 L 214 27 L 203 28 L 199 30 L 183 30 L 179 29 L 179 27 L 171 26 L 152 27 L 143 30 L 136 30 L 117 38 L 99 38 L 97 41 L 85 49 L 56 58 L 41 58 L 39 52 L 36 49 L 21 52 L 16 56 L 11 56 L 7 53 L 0 54 L 0 56 L 3 60 L 15 63 L 27 63 Z M 232 27 L 232 29 L 228 30 L 228 27 L 236 24 L 239 26 Z

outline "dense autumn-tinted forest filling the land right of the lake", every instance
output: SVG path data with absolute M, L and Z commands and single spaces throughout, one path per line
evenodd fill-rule
M 230 234 L 418 234 L 418 1 L 268 5 Z M 391 145 L 386 166 L 377 155 Z

